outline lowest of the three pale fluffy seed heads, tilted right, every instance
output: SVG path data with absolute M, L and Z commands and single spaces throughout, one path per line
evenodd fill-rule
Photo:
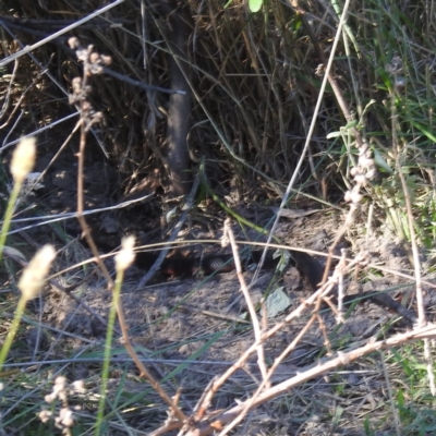
M 27 301 L 35 298 L 43 288 L 44 280 L 50 270 L 55 257 L 56 251 L 53 246 L 45 245 L 35 254 L 35 257 L 24 269 L 19 288 Z

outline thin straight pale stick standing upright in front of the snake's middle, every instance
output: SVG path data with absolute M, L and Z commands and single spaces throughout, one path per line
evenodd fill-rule
M 268 370 L 266 368 L 266 364 L 265 364 L 265 350 L 262 344 L 262 330 L 261 330 L 259 322 L 257 319 L 256 310 L 254 307 L 253 301 L 252 301 L 250 292 L 249 292 L 249 288 L 246 287 L 244 276 L 242 275 L 241 259 L 238 254 L 238 245 L 234 240 L 234 234 L 230 228 L 230 219 L 229 218 L 226 219 L 226 221 L 225 221 L 222 240 L 225 240 L 226 238 L 229 238 L 229 241 L 230 241 L 230 245 L 231 245 L 231 249 L 233 252 L 234 267 L 237 269 L 238 279 L 241 284 L 241 290 L 242 290 L 242 293 L 244 294 L 246 305 L 249 307 L 250 316 L 252 318 L 254 338 L 255 338 L 256 343 L 258 343 L 257 364 L 261 370 L 262 377 L 265 380 L 267 377 Z

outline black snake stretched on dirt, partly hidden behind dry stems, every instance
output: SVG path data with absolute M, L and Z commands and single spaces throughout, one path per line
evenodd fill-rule
M 307 253 L 289 251 L 291 254 L 291 264 L 295 266 L 311 283 L 312 290 L 315 292 L 318 284 L 323 280 L 324 268 Z M 262 251 L 253 251 L 247 255 L 241 256 L 243 265 L 250 263 L 258 263 L 262 257 Z M 153 265 L 156 255 L 152 253 L 137 253 L 136 264 L 143 268 L 149 268 Z M 272 251 L 268 252 L 264 263 L 264 268 L 274 269 L 278 261 L 272 258 Z M 160 272 L 166 276 L 193 276 L 197 271 L 205 275 L 214 272 L 229 272 L 234 270 L 234 261 L 231 254 L 213 254 L 203 257 L 169 257 L 166 258 L 160 267 Z M 351 304 L 354 301 L 371 300 L 373 303 L 389 308 L 402 316 L 408 324 L 414 324 L 417 320 L 416 314 L 402 306 L 387 293 L 380 292 L 360 292 L 343 298 L 344 304 Z

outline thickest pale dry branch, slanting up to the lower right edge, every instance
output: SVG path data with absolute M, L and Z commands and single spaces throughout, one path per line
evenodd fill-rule
M 374 351 L 386 350 L 391 347 L 401 346 L 403 343 L 408 343 L 412 340 L 422 340 L 422 339 L 432 339 L 436 338 L 436 325 L 428 324 L 425 327 L 415 328 L 412 331 L 408 331 L 401 335 L 396 335 L 386 340 L 368 342 L 365 346 L 351 350 L 349 352 L 338 352 L 338 356 L 335 359 L 330 359 L 327 362 L 318 363 L 317 365 L 304 371 L 303 373 L 296 374 L 294 377 L 289 378 L 286 382 L 282 382 L 265 392 L 261 393 L 252 404 L 252 409 L 258 405 L 266 403 L 269 400 L 272 400 L 281 395 L 289 393 L 289 390 L 294 388 L 295 386 L 301 385 L 304 382 L 310 380 L 314 377 L 319 377 L 326 374 L 329 371 L 337 370 L 339 366 L 347 365 L 366 354 L 370 354 Z M 228 410 L 222 413 L 217 420 L 205 420 L 199 423 L 195 429 L 192 429 L 186 433 L 186 436 L 206 436 L 215 432 L 216 428 L 222 428 L 231 420 L 234 420 L 246 407 L 246 403 L 251 401 L 247 399 L 246 401 L 238 404 L 237 407 Z

